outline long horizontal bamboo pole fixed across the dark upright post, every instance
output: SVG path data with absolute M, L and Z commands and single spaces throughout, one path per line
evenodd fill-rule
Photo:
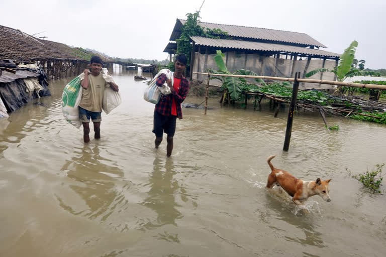
M 202 74 L 202 75 L 218 76 L 218 77 L 261 78 L 261 79 L 271 79 L 271 80 L 280 80 L 280 81 L 294 81 L 295 80 L 293 78 L 283 78 L 283 77 L 215 74 L 215 73 L 202 73 L 202 72 L 193 72 L 193 73 Z M 361 84 L 361 83 L 353 83 L 353 82 L 341 82 L 341 81 L 307 79 L 307 78 L 300 78 L 300 79 L 298 79 L 298 81 L 304 82 L 304 83 L 317 83 L 317 84 L 327 84 L 327 85 L 336 85 L 336 86 L 351 86 L 351 87 L 361 87 L 361 88 L 372 88 L 372 89 L 386 90 L 386 85 Z

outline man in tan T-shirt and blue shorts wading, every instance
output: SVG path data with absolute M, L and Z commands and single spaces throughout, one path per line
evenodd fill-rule
M 94 123 L 94 138 L 101 138 L 101 121 L 102 121 L 102 99 L 105 87 L 111 87 L 114 91 L 119 90 L 118 85 L 114 82 L 107 83 L 102 77 L 102 59 L 99 56 L 92 56 L 89 67 L 91 74 L 89 75 L 89 69 L 85 69 L 84 79 L 81 81 L 83 87 L 82 99 L 79 103 L 79 119 L 83 124 L 83 141 L 88 143 L 90 137 L 89 122 Z

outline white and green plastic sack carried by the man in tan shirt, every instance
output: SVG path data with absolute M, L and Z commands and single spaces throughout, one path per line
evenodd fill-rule
M 84 79 L 84 73 L 71 80 L 64 87 L 62 94 L 62 111 L 64 119 L 77 128 L 81 125 L 78 105 L 82 99 L 83 93 L 83 88 L 80 85 L 82 79 Z

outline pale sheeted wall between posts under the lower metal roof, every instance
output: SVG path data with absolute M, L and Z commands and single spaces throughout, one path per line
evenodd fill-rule
M 294 77 L 295 72 L 301 72 L 303 77 L 305 68 L 307 66 L 307 58 L 303 60 L 282 59 L 282 58 L 271 58 L 267 56 L 257 54 L 245 54 L 240 52 L 226 52 L 225 62 L 229 71 L 234 72 L 239 69 L 251 70 L 261 76 L 272 76 L 272 77 Z M 209 69 L 217 70 L 215 62 L 215 54 L 200 54 L 195 53 L 193 72 L 208 72 Z M 294 67 L 294 68 L 293 68 Z M 312 59 L 306 70 L 306 73 L 317 68 L 323 67 L 323 60 Z M 326 60 L 324 68 L 332 69 L 335 67 L 335 61 Z M 318 73 L 312 77 L 312 79 L 321 79 L 321 74 Z M 195 80 L 206 80 L 205 75 L 193 74 L 192 79 Z M 323 73 L 324 80 L 335 80 L 334 74 L 331 72 Z M 211 84 L 220 84 L 216 80 L 211 81 Z M 333 85 L 320 85 L 314 83 L 301 83 L 300 89 L 330 89 L 334 88 Z

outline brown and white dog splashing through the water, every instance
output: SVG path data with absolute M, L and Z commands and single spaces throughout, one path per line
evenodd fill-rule
M 304 201 L 313 195 L 319 195 L 327 202 L 331 201 L 330 195 L 328 194 L 330 191 L 328 184 L 331 179 L 321 180 L 317 178 L 314 181 L 308 182 L 297 179 L 288 172 L 273 167 L 271 160 L 274 157 L 275 155 L 271 155 L 267 159 L 267 163 L 272 170 L 268 176 L 267 188 L 272 188 L 274 185 L 280 186 L 288 195 L 293 197 L 292 200 L 297 205 L 303 204 Z

